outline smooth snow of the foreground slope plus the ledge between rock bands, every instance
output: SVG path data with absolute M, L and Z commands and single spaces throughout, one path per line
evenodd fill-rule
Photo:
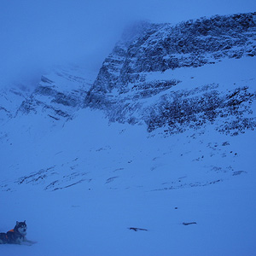
M 182 89 L 256 88 L 250 57 L 169 73 Z M 256 255 L 255 131 L 214 125 L 148 133 L 90 108 L 64 125 L 42 113 L 3 122 L 0 231 L 26 219 L 38 242 L 0 245 L 0 254 Z

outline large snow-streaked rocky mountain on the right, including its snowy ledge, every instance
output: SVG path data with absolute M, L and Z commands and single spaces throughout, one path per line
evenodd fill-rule
M 176 26 L 142 23 L 103 62 L 85 106 L 103 109 L 112 121 L 145 122 L 148 131 L 165 127 L 168 133 L 180 132 L 217 119 L 218 131 L 253 129 L 252 84 L 224 84 L 218 73 L 224 66 L 220 63 L 229 60 L 243 73 L 242 66 L 251 64 L 238 60 L 255 60 L 255 55 L 256 13 L 217 15 Z M 192 82 L 197 69 L 201 77 L 212 69 L 215 83 Z

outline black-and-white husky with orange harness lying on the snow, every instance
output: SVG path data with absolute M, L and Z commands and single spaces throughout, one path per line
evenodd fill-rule
M 26 239 L 26 230 L 26 220 L 23 222 L 17 221 L 13 230 L 9 230 L 7 233 L 0 233 L 0 244 L 13 243 L 32 245 L 33 243 L 36 243 L 35 241 Z

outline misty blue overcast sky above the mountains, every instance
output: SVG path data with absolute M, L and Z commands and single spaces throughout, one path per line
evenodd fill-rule
M 256 11 L 255 0 L 0 0 L 0 87 L 54 65 L 97 70 L 129 23 Z

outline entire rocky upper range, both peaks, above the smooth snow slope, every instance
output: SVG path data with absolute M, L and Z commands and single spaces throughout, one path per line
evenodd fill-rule
M 256 13 L 176 26 L 142 22 L 124 33 L 97 77 L 62 67 L 30 94 L 2 92 L 0 120 L 36 113 L 60 123 L 89 107 L 110 121 L 146 124 L 148 132 L 211 124 L 237 134 L 256 126 L 255 55 Z

